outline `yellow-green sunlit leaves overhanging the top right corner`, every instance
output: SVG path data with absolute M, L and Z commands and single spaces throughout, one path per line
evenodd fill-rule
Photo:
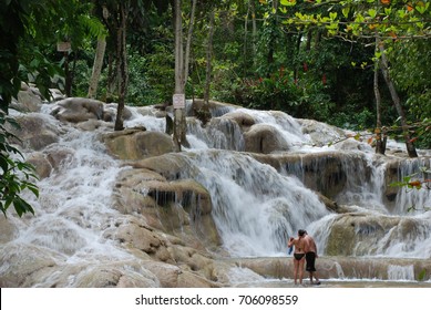
M 304 27 L 321 27 L 329 35 L 341 35 L 350 39 L 369 38 L 377 33 L 382 39 L 399 40 L 409 37 L 431 37 L 430 25 L 430 2 L 410 1 L 399 3 L 390 0 L 341 0 L 320 1 L 320 10 L 309 10 L 317 3 L 301 4 L 301 14 L 288 18 L 288 24 L 300 24 Z M 280 1 L 281 6 L 291 7 L 293 0 Z M 309 7 L 307 7 L 309 6 Z M 317 7 L 316 7 L 317 8 Z M 316 13 L 309 13 L 315 11 Z M 333 13 L 341 12 L 333 18 Z M 337 25 L 336 25 L 337 24 Z

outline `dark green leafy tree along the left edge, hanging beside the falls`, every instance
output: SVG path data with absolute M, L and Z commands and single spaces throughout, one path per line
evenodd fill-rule
M 99 29 L 86 9 L 88 3 L 78 0 L 0 1 L 0 209 L 4 215 L 11 205 L 19 216 L 34 213 L 20 194 L 29 189 L 39 195 L 34 168 L 11 145 L 18 137 L 8 127 L 18 124 L 8 115 L 9 105 L 21 82 L 33 82 L 50 96 L 51 78 L 62 75 L 62 70 L 47 59 L 47 51 L 65 39 L 79 46 L 85 32 Z

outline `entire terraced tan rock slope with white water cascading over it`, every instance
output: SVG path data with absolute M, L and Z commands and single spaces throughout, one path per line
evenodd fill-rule
M 431 190 L 390 186 L 429 151 L 376 155 L 324 123 L 212 102 L 205 126 L 188 103 L 191 147 L 174 153 L 157 106 L 127 107 L 114 132 L 115 104 L 14 105 L 40 198 L 0 218 L 1 287 L 291 286 L 299 228 L 328 283 L 431 286 Z

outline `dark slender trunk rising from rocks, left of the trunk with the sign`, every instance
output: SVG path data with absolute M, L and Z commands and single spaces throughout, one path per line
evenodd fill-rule
M 116 38 L 116 53 L 117 53 L 117 74 L 120 76 L 120 97 L 116 110 L 115 131 L 124 130 L 123 126 L 123 111 L 125 105 L 125 97 L 127 95 L 129 73 L 127 73 L 127 50 L 126 50 L 126 20 L 127 8 L 125 2 L 120 4 L 120 27 Z

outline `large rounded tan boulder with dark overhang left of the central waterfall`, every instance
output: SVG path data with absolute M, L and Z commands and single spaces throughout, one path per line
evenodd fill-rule
M 152 157 L 140 162 L 142 168 L 122 172 L 114 189 L 115 208 L 138 213 L 148 226 L 186 238 L 194 247 L 219 245 L 209 193 L 193 179 L 168 182 L 157 172 L 170 166 L 165 162 L 163 156 Z

